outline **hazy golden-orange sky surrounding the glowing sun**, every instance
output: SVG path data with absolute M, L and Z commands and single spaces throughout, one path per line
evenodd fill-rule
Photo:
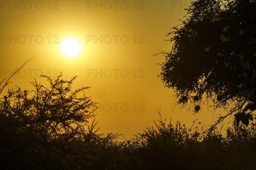
M 100 132 L 127 137 L 153 125 L 161 109 L 163 118 L 191 125 L 198 119 L 214 122 L 212 108 L 203 105 L 193 115 L 188 106 L 176 105 L 172 89 L 164 88 L 159 62 L 172 42 L 166 34 L 180 24 L 190 1 L 87 1 L 1 0 L 0 79 L 35 56 L 12 84 L 31 89 L 29 82 L 40 74 L 65 79 L 77 75 L 73 87 L 90 86 L 88 96 L 99 102 L 96 111 Z M 72 37 L 81 53 L 66 57 L 61 42 Z M 184 68 L 186 69 L 186 68 Z M 218 113 L 218 109 L 215 113 Z

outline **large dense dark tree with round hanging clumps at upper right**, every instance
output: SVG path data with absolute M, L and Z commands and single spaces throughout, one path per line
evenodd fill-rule
M 256 110 L 256 1 L 196 0 L 174 27 L 160 77 L 180 103 L 200 110 L 204 94 L 246 126 Z M 215 124 L 215 125 L 216 125 Z

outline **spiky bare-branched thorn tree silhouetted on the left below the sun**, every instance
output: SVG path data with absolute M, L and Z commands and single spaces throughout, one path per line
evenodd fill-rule
M 95 104 L 62 75 L 0 98 L 0 169 L 105 169 L 116 135 L 96 133 Z

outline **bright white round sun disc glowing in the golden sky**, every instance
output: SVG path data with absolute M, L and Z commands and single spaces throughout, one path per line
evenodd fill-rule
M 81 44 L 75 38 L 67 38 L 61 43 L 61 52 L 67 57 L 76 57 L 81 52 Z

